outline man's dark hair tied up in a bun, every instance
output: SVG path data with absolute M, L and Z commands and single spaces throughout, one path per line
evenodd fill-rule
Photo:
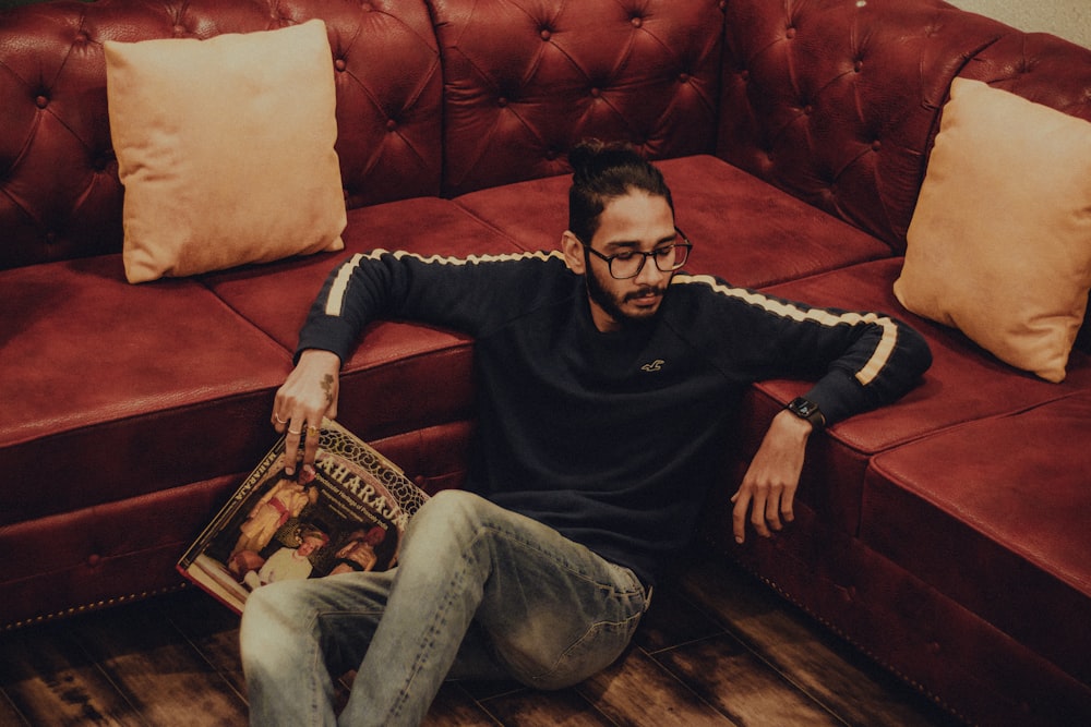
M 587 244 L 599 229 L 599 216 L 607 204 L 634 190 L 663 197 L 674 211 L 662 172 L 628 144 L 580 142 L 568 153 L 568 162 L 573 168 L 568 230 Z

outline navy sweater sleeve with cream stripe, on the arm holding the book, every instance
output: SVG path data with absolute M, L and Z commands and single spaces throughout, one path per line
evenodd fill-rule
M 466 258 L 376 250 L 356 254 L 327 276 L 299 336 L 307 349 L 333 351 L 344 362 L 373 320 L 398 319 L 479 335 L 532 305 L 558 253 Z M 513 294 L 514 293 L 514 294 Z

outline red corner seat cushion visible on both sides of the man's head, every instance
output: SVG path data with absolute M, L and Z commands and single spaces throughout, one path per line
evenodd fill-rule
M 889 257 L 884 243 L 715 157 L 658 162 L 675 221 L 694 243 L 686 268 L 758 288 Z M 455 201 L 526 250 L 555 247 L 568 223 L 571 174 Z

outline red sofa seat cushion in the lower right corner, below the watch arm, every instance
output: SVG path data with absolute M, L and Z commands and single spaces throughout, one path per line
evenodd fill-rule
M 1091 683 L 1089 439 L 1082 391 L 884 452 L 861 540 Z

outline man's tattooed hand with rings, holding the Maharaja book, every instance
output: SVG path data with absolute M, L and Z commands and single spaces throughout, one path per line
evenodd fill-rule
M 331 351 L 308 349 L 277 389 L 273 403 L 273 426 L 285 437 L 285 473 L 296 473 L 299 443 L 303 441 L 303 468 L 314 464 L 319 451 L 322 417 L 337 416 L 340 358 Z

